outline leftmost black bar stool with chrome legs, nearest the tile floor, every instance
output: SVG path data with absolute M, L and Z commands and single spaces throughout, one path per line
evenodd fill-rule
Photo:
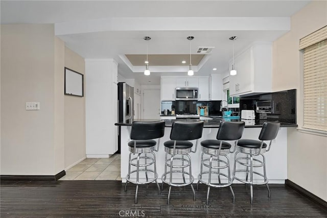
M 134 121 L 132 123 L 131 133 L 130 133 L 130 141 L 128 142 L 129 146 L 129 160 L 128 160 L 128 174 L 126 176 L 126 185 L 125 191 L 127 191 L 128 182 L 136 184 L 136 192 L 135 192 L 135 204 L 137 204 L 137 191 L 138 185 L 140 184 L 148 184 L 155 181 L 158 187 L 158 193 L 160 194 L 160 186 L 157 182 L 158 174 L 156 170 L 156 159 L 153 151 L 158 151 L 160 138 L 165 134 L 165 121 L 155 121 L 155 122 L 140 122 Z M 158 143 L 153 140 L 158 139 Z M 157 148 L 156 144 L 158 145 Z M 137 155 L 137 157 L 131 159 L 132 155 Z M 144 156 L 143 156 L 144 154 Z M 148 157 L 147 154 L 152 155 L 152 157 Z M 141 163 L 140 163 L 140 160 Z M 148 167 L 153 165 L 153 170 Z M 131 166 L 136 167 L 136 170 L 131 171 Z M 145 181 L 140 180 L 139 173 L 145 172 Z M 148 177 L 148 173 L 152 174 L 151 178 Z M 131 175 L 136 174 L 135 178 L 131 178 Z

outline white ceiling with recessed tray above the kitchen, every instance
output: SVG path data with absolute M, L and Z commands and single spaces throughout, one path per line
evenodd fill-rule
M 160 75 L 185 76 L 188 67 L 150 68 L 148 77 L 142 68 L 128 67 L 125 54 L 146 54 L 144 36 L 152 38 L 149 54 L 189 54 L 186 37 L 194 36 L 192 54 L 198 47 L 215 47 L 203 66 L 195 66 L 195 75 L 225 73 L 230 36 L 238 36 L 235 53 L 253 41 L 273 41 L 289 31 L 290 16 L 309 2 L 1 1 L 1 24 L 55 24 L 55 34 L 82 57 L 113 58 L 125 78 L 154 85 Z

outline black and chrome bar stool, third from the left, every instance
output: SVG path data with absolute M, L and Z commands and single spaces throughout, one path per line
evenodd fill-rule
M 209 204 L 209 192 L 210 187 L 215 188 L 222 188 L 222 187 L 229 187 L 230 192 L 233 197 L 233 202 L 235 202 L 235 194 L 231 187 L 232 179 L 230 178 L 230 167 L 229 167 L 229 158 L 228 154 L 230 152 L 234 152 L 236 148 L 236 144 L 238 140 L 242 137 L 243 130 L 244 130 L 245 123 L 241 122 L 226 122 L 222 121 L 219 125 L 218 133 L 217 133 L 217 140 L 204 140 L 201 142 L 201 167 L 200 167 L 200 174 L 198 176 L 198 184 L 197 189 L 199 188 L 199 184 L 204 183 L 208 186 L 208 191 L 206 195 L 206 204 Z M 227 141 L 235 141 L 235 147 L 233 151 L 230 151 L 231 144 Z M 209 157 L 203 158 L 204 155 Z M 224 157 L 225 160 L 220 159 Z M 203 171 L 203 167 L 207 167 L 208 171 Z M 220 170 L 227 168 L 227 173 L 222 173 Z M 216 170 L 216 171 L 214 171 Z M 208 178 L 204 178 L 204 175 L 208 175 Z M 213 175 L 218 176 L 218 183 L 213 181 Z M 225 177 L 228 179 L 228 182 L 225 184 L 221 183 L 220 176 Z

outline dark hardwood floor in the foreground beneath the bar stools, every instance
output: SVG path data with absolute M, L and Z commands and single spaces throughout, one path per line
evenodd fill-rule
M 196 185 L 194 185 L 196 187 Z M 327 210 L 284 185 L 254 186 L 254 204 L 245 185 L 212 188 L 205 205 L 206 186 L 172 188 L 167 205 L 168 186 L 158 195 L 155 184 L 139 187 L 134 204 L 135 185 L 124 192 L 121 181 L 2 182 L 1 217 L 327 217 Z

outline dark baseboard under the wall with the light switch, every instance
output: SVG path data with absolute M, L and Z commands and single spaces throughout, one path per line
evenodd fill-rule
M 0 181 L 43 181 L 43 182 L 56 182 L 61 177 L 65 176 L 65 170 L 58 172 L 54 176 L 30 176 L 30 175 L 1 175 Z

